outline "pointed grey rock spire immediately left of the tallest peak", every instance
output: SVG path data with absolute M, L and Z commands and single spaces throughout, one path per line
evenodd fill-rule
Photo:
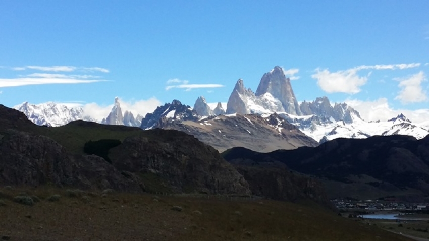
M 227 114 L 239 113 L 249 114 L 249 108 L 247 106 L 246 89 L 244 88 L 243 80 L 240 78 L 235 84 L 234 90 L 232 91 L 230 98 L 227 103 Z

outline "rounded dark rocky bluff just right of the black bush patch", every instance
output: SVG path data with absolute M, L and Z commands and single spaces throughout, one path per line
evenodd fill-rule
M 129 137 L 111 149 L 116 168 L 154 175 L 170 192 L 250 193 L 243 176 L 211 146 L 179 131 L 147 132 L 153 138 Z

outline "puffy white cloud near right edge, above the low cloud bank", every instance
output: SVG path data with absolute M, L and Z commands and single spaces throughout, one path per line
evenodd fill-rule
M 395 99 L 400 100 L 401 103 L 409 104 L 427 100 L 426 92 L 421 86 L 421 82 L 426 81 L 426 76 L 424 75 L 423 71 L 420 71 L 419 73 L 405 79 L 395 80 L 399 81 L 398 86 L 401 88 L 401 91 L 399 91 L 399 94 L 395 97 Z

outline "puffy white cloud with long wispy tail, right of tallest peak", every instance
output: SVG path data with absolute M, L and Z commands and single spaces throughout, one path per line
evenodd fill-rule
M 327 93 L 342 92 L 348 94 L 356 94 L 361 91 L 360 87 L 368 81 L 368 76 L 359 76 L 358 71 L 361 70 L 404 70 L 419 67 L 420 63 L 410 64 L 392 64 L 392 65 L 361 65 L 348 70 L 340 70 L 330 72 L 328 69 L 315 70 L 315 74 L 311 75 L 317 80 L 317 85 Z

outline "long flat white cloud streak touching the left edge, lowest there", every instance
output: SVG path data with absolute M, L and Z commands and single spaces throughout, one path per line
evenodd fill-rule
M 12 78 L 0 79 L 0 87 L 14 87 L 23 85 L 41 85 L 41 84 L 82 84 L 93 83 L 106 80 L 80 80 L 75 78 Z

